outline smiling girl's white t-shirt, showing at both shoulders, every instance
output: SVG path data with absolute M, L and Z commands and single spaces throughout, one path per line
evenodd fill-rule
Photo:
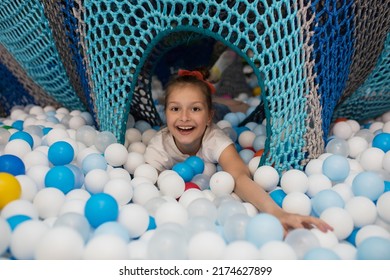
M 218 163 L 223 150 L 230 144 L 233 144 L 230 137 L 217 125 L 212 124 L 206 129 L 202 139 L 202 146 L 196 155 L 203 159 L 205 166 L 207 163 L 215 164 Z M 173 165 L 184 161 L 189 155 L 180 152 L 172 134 L 165 127 L 150 140 L 144 157 L 146 163 L 159 171 L 164 171 L 172 169 Z

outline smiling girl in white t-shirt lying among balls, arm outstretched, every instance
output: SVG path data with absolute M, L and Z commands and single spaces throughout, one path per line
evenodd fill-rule
M 167 126 L 150 141 L 145 161 L 160 172 L 196 155 L 207 163 L 219 163 L 235 180 L 234 192 L 259 211 L 277 217 L 285 231 L 317 227 L 332 230 L 324 221 L 311 216 L 291 214 L 281 209 L 250 176 L 232 140 L 212 123 L 214 87 L 199 71 L 179 70 L 166 87 Z

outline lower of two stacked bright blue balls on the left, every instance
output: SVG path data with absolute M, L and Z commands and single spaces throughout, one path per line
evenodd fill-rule
M 74 189 L 75 186 L 75 177 L 68 167 L 60 165 L 53 166 L 46 173 L 45 176 L 45 186 L 47 188 L 57 188 L 62 191 L 64 194 L 67 194 Z

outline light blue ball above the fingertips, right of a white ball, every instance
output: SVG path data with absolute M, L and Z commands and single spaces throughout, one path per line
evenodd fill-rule
M 331 189 L 319 191 L 311 201 L 313 211 L 317 216 L 320 216 L 324 210 L 330 207 L 344 208 L 345 205 L 343 198 Z

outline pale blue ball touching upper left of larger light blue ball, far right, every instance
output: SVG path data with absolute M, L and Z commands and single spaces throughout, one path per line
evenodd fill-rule
M 322 173 L 333 182 L 342 182 L 348 177 L 348 159 L 341 155 L 331 155 L 322 164 Z

